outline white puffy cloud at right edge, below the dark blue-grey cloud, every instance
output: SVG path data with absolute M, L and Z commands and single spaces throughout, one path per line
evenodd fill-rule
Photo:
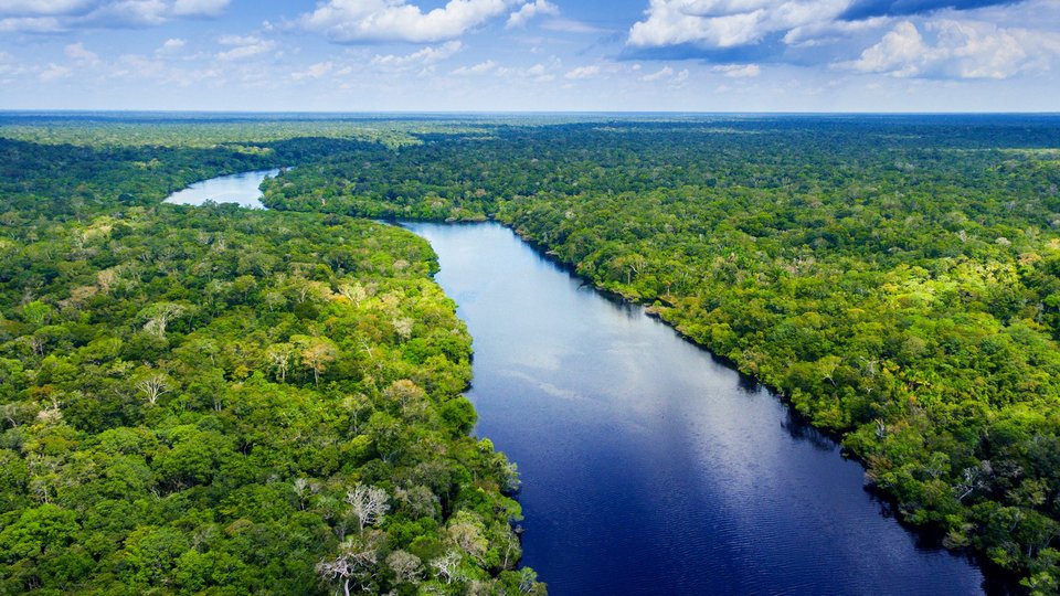
M 1024 71 L 1045 71 L 1060 55 L 1060 34 L 998 28 L 981 21 L 942 19 L 924 31 L 910 21 L 898 23 L 858 60 L 837 68 L 898 77 L 1008 78 Z

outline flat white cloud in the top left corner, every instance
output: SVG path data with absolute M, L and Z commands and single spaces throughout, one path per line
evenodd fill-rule
M 216 17 L 231 0 L 3 0 L 0 31 L 150 26 L 186 17 Z

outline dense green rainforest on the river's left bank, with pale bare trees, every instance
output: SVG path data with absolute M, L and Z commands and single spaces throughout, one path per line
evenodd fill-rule
M 290 126 L 0 126 L 0 594 L 544 592 L 430 245 L 161 204 L 410 139 Z

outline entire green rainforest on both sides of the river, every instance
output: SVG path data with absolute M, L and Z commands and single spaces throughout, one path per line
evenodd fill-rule
M 2 590 L 544 589 L 433 253 L 364 219 L 511 226 L 1060 589 L 1060 118 L 162 124 L 0 123 Z

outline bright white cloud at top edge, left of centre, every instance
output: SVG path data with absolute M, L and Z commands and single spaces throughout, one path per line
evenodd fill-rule
M 517 1 L 517 0 L 516 0 Z M 513 0 L 449 0 L 424 13 L 405 0 L 328 0 L 298 24 L 339 43 L 453 40 L 506 14 Z

